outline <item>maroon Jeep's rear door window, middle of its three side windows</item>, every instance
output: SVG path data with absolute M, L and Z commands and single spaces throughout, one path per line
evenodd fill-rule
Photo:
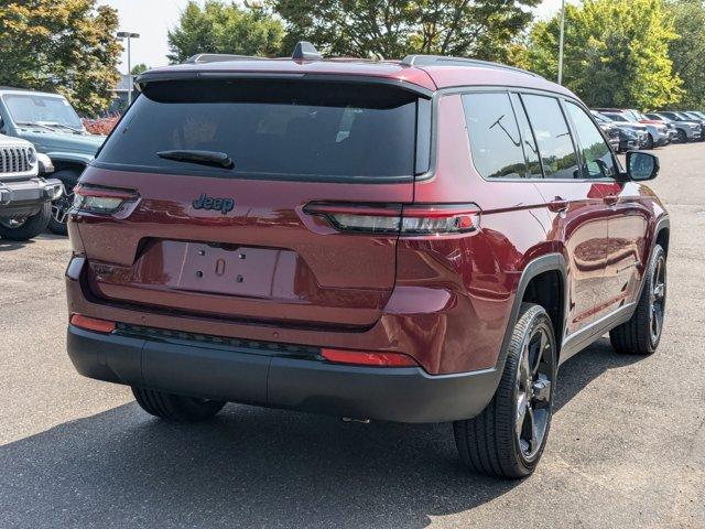
M 558 100 L 522 94 L 546 179 L 581 177 L 577 155 Z

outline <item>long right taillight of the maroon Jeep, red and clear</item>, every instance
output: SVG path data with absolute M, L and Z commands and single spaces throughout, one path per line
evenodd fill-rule
M 325 217 L 338 231 L 429 236 L 478 229 L 480 209 L 476 204 L 311 203 L 304 213 Z

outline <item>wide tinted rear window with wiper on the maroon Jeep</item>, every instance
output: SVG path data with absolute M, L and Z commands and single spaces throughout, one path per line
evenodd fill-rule
M 289 80 L 152 83 L 101 149 L 98 165 L 261 179 L 414 174 L 416 96 L 384 85 Z M 158 152 L 225 152 L 232 169 Z

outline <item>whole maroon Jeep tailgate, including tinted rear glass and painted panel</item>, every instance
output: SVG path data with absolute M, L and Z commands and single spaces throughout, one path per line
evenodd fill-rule
M 238 321 L 372 325 L 394 285 L 397 234 L 340 233 L 304 207 L 412 202 L 415 96 L 178 88 L 140 96 L 82 176 L 90 193 L 133 194 L 113 213 L 73 215 L 94 294 Z M 235 169 L 155 155 L 196 148 L 227 152 Z

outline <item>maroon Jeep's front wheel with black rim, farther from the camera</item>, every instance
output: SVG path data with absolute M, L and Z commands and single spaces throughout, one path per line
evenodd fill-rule
M 655 245 L 633 315 L 609 332 L 609 341 L 618 353 L 652 355 L 657 350 L 663 332 L 665 298 L 665 251 Z

